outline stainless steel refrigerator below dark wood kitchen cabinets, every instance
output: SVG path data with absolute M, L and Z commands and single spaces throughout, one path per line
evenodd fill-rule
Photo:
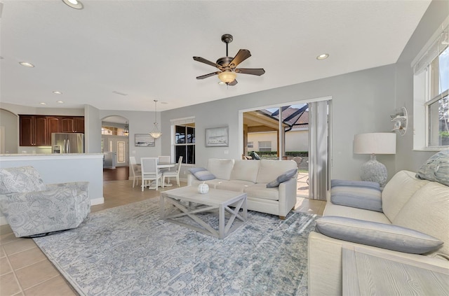
M 51 153 L 84 153 L 84 134 L 53 132 Z

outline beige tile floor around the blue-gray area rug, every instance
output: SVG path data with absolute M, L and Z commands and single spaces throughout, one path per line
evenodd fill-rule
M 298 188 L 305 187 L 300 184 Z M 307 183 L 305 183 L 307 185 Z M 186 183 L 181 183 L 181 186 Z M 176 187 L 176 185 L 175 185 Z M 173 187 L 172 187 L 173 188 Z M 169 190 L 172 188 L 164 188 Z M 160 190 L 159 190 L 160 191 Z M 105 181 L 105 204 L 92 206 L 91 211 L 159 197 L 156 190 L 133 188 L 132 181 Z M 308 196 L 308 185 L 307 185 Z M 295 209 L 322 215 L 326 202 L 297 197 Z M 77 295 L 32 239 L 16 238 L 8 225 L 0 226 L 0 296 L 9 295 Z

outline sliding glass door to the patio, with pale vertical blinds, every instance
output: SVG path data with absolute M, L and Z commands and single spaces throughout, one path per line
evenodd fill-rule
M 297 196 L 326 199 L 330 100 L 240 111 L 244 159 L 294 160 Z

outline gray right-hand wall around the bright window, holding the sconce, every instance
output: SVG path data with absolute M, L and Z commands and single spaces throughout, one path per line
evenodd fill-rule
M 398 136 L 396 167 L 417 171 L 435 152 L 413 150 L 413 69 L 411 62 L 449 14 L 449 1 L 432 1 L 396 63 L 396 108 L 408 111 L 408 129 Z

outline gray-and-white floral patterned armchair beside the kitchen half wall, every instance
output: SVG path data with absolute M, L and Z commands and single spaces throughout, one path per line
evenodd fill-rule
M 16 237 L 76 228 L 91 213 L 88 182 L 45 185 L 34 167 L 0 169 L 0 211 Z

